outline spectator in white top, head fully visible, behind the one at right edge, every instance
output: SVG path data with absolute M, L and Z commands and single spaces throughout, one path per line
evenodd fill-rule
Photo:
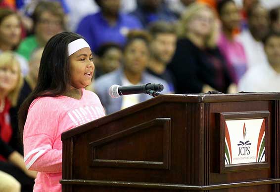
M 248 29 L 244 29 L 238 37 L 244 47 L 248 68 L 257 65 L 268 65 L 262 39 L 269 31 L 269 15 L 260 3 L 247 9 Z

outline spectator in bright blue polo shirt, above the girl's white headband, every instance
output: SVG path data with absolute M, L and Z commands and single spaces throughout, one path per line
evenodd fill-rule
M 120 13 L 120 0 L 95 2 L 100 11 L 83 18 L 77 28 L 77 33 L 87 39 L 93 51 L 106 42 L 124 45 L 129 30 L 142 28 L 136 17 Z

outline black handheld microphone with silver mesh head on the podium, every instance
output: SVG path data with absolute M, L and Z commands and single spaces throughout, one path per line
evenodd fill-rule
M 146 83 L 143 85 L 129 86 L 112 85 L 109 88 L 109 95 L 113 98 L 118 98 L 121 95 L 131 95 L 140 93 L 149 94 L 148 90 L 162 91 L 163 88 L 163 84 L 160 83 Z

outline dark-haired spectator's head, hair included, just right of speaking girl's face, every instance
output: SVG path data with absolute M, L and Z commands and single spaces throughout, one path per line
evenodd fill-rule
M 105 43 L 95 52 L 99 61 L 99 68 L 94 69 L 94 78 L 110 73 L 118 69 L 121 65 L 123 52 L 120 45 L 116 43 Z

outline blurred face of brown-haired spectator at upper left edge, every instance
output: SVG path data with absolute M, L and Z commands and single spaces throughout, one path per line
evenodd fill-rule
M 14 15 L 5 17 L 0 24 L 0 42 L 8 46 L 16 46 L 20 41 L 20 20 Z

